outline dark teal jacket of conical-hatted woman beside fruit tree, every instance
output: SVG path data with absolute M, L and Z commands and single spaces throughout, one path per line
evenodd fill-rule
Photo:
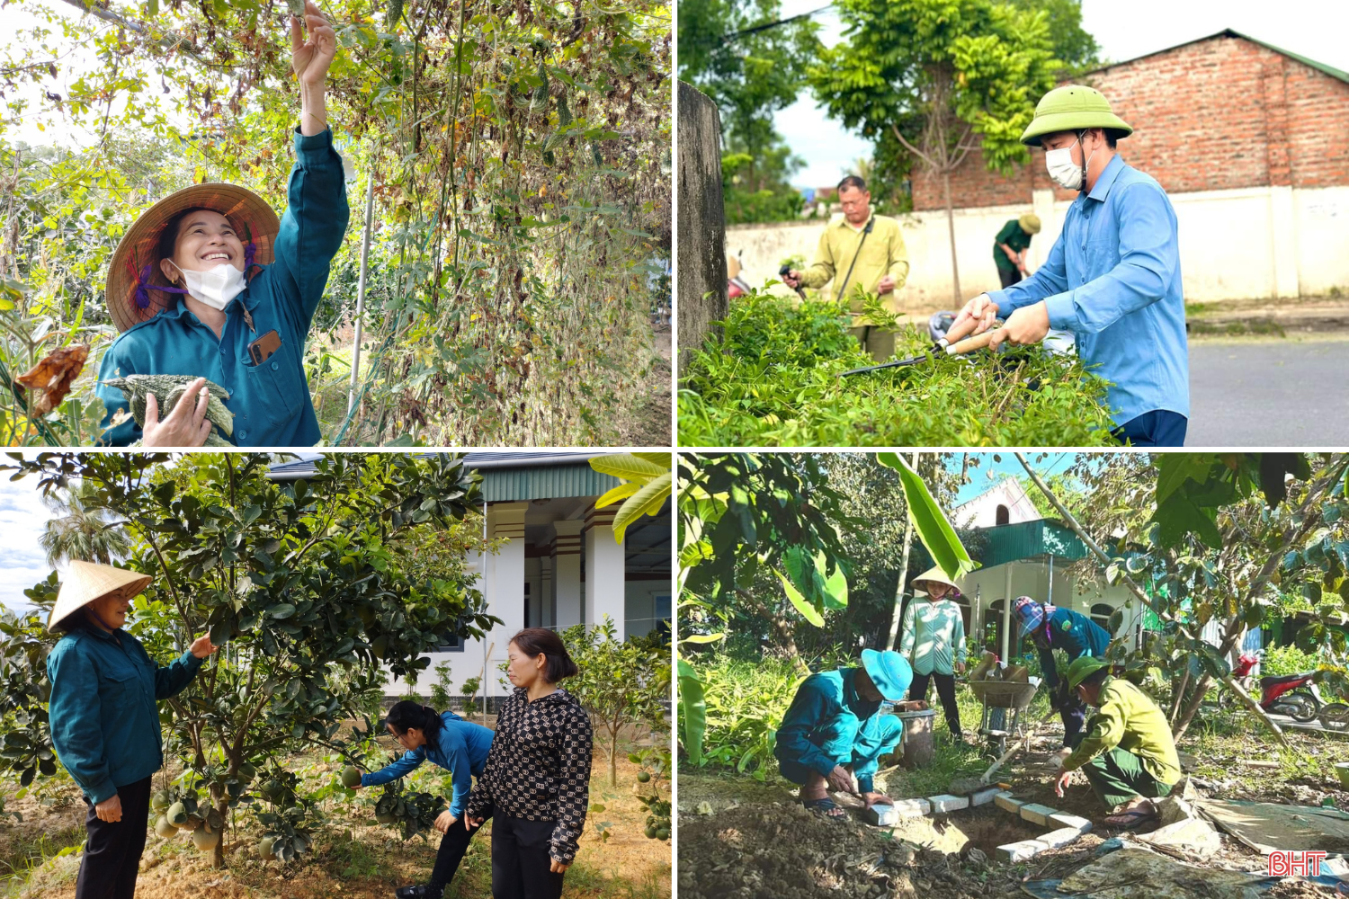
M 158 700 L 182 693 L 201 670 L 183 652 L 156 664 L 125 631 L 71 631 L 47 656 L 51 745 L 89 802 L 163 767 Z

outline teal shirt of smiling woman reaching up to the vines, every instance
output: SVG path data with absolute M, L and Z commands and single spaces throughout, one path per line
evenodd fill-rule
M 123 375 L 206 377 L 229 391 L 225 407 L 235 414 L 235 433 L 225 439 L 237 446 L 317 443 L 321 433 L 305 380 L 305 340 L 349 217 L 332 131 L 306 137 L 297 129 L 287 202 L 274 244 L 275 261 L 254 270 L 258 274 L 244 292 L 225 307 L 220 338 L 179 299 L 123 332 L 104 353 L 98 380 Z M 246 323 L 240 303 L 252 315 L 254 329 Z M 281 337 L 281 348 L 254 365 L 248 344 L 270 330 Z M 103 421 L 108 429 L 117 410 L 127 408 L 127 399 L 115 387 L 100 384 L 97 390 L 108 410 Z M 128 419 L 105 430 L 100 443 L 127 446 L 138 439 L 140 427 Z

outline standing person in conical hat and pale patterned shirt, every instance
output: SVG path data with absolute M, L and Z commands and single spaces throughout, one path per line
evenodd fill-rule
M 917 594 L 927 593 L 927 601 Z M 936 694 L 946 713 L 946 726 L 955 743 L 963 743 L 960 708 L 955 701 L 955 675 L 965 674 L 965 617 L 954 598 L 960 590 L 934 566 L 913 578 L 913 598 L 904 609 L 900 655 L 913 666 L 909 700 L 927 702 L 927 686 L 936 681 Z

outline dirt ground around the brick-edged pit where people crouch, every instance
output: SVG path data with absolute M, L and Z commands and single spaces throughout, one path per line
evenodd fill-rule
M 1334 760 L 1349 759 L 1349 740 L 1292 733 L 1290 741 L 1291 752 L 1280 756 L 1264 735 L 1201 733 L 1182 743 L 1182 763 L 1201 798 L 1311 806 L 1331 802 L 1349 809 L 1349 791 L 1330 772 Z M 871 828 L 858 817 L 859 801 L 836 794 L 840 805 L 850 807 L 846 821 L 827 821 L 805 811 L 796 799 L 796 786 L 780 779 L 776 771 L 758 782 L 681 770 L 679 895 L 681 899 L 1025 896 L 1024 881 L 1066 877 L 1095 860 L 1094 853 L 1105 840 L 1124 833 L 1102 824 L 1106 810 L 1081 775 L 1064 797 L 1055 795 L 1052 756 L 1060 744 L 1062 726 L 1045 725 L 1031 751 L 1000 770 L 996 780 L 1009 783 L 1017 798 L 1086 817 L 1094 826 L 1077 842 L 1023 864 L 997 863 L 996 848 L 1033 838 L 1044 828 L 996 807 Z M 971 768 L 982 772 L 987 759 L 973 751 L 970 756 L 962 774 Z M 921 772 L 896 766 L 882 768 L 878 783 L 897 797 L 929 795 L 932 791 L 905 788 L 921 779 Z M 1153 829 L 1145 825 L 1136 833 Z M 1264 868 L 1260 853 L 1222 832 L 1219 838 L 1221 849 L 1205 867 Z M 1310 899 L 1334 894 L 1307 883 L 1286 883 L 1263 895 Z M 1207 894 L 1203 896 L 1210 899 Z

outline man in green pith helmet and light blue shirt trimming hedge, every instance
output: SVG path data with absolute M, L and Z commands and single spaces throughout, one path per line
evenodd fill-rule
M 1050 178 L 1078 198 L 1045 263 L 966 303 L 947 340 L 987 330 L 997 318 L 1005 325 L 994 349 L 1037 344 L 1050 329 L 1071 332 L 1082 361 L 1110 383 L 1116 439 L 1183 446 L 1190 360 L 1176 214 L 1161 185 L 1116 154 L 1130 133 L 1098 90 L 1067 85 L 1044 94 L 1021 143 L 1043 147 Z

